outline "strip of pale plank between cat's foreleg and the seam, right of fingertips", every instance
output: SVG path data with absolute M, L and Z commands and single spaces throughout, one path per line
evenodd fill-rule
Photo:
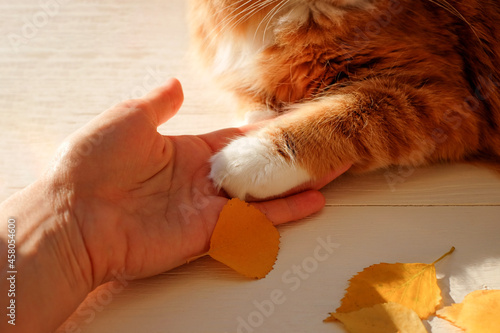
M 328 205 L 500 205 L 500 174 L 472 164 L 393 168 L 344 175 L 325 189 Z

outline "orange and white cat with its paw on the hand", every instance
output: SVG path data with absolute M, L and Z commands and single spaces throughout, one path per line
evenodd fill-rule
M 190 0 L 200 59 L 277 117 L 212 159 L 265 198 L 365 171 L 500 156 L 498 0 Z

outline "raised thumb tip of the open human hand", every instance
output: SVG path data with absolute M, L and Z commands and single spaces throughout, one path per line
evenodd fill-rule
M 168 79 L 163 85 L 147 93 L 144 100 L 150 103 L 156 115 L 157 126 L 172 118 L 184 102 L 184 93 L 179 80 Z

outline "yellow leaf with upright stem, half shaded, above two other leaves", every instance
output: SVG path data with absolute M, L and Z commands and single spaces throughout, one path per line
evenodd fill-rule
M 337 312 L 352 312 L 375 304 L 395 302 L 415 311 L 421 319 L 436 312 L 441 303 L 435 264 L 387 264 L 365 268 L 351 278 Z

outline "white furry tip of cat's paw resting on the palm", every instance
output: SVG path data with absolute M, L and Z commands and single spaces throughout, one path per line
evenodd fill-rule
M 311 180 L 290 156 L 265 135 L 232 141 L 211 159 L 215 186 L 242 200 L 278 196 Z

